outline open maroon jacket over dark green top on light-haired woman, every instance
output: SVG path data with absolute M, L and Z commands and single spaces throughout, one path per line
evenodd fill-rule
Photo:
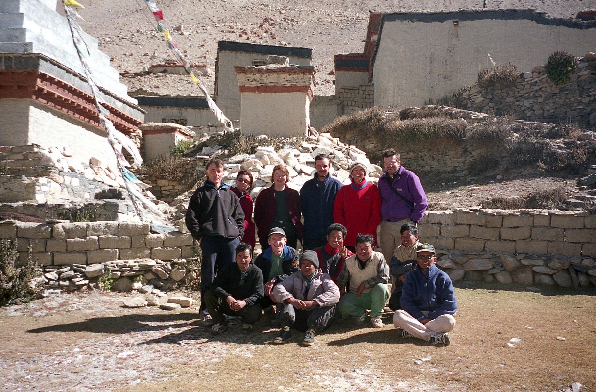
M 288 205 L 290 219 L 296 227 L 298 239 L 302 241 L 304 229 L 300 222 L 300 193 L 297 190 L 285 187 L 285 202 Z M 275 192 L 274 186 L 263 189 L 254 203 L 254 223 L 257 226 L 259 240 L 267 238 L 271 223 L 275 218 Z

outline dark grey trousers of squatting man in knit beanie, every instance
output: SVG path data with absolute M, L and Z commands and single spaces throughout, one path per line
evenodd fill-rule
M 291 304 L 277 304 L 277 321 L 281 326 L 288 326 L 305 332 L 314 329 L 315 332 L 325 331 L 331 326 L 335 315 L 336 305 L 316 307 L 312 310 L 294 308 Z

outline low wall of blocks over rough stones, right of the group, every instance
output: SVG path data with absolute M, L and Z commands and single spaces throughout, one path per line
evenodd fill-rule
M 430 211 L 418 229 L 443 249 L 437 264 L 454 280 L 596 285 L 596 215 L 588 212 Z

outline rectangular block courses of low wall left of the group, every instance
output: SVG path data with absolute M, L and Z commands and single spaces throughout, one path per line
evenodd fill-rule
M 29 247 L 39 266 L 86 266 L 141 258 L 171 261 L 194 256 L 190 233 L 153 234 L 148 223 L 41 224 L 5 220 L 0 221 L 0 238 L 17 240 L 20 265 L 27 262 Z

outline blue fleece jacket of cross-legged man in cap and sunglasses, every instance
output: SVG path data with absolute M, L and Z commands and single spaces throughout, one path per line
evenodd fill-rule
M 433 265 L 428 268 L 428 277 L 424 276 L 420 266 L 416 266 L 403 280 L 402 297 L 399 303 L 402 309 L 418 321 L 428 317 L 436 319 L 441 314 L 455 314 L 457 303 L 449 276 Z M 424 316 L 422 311 L 428 311 Z

